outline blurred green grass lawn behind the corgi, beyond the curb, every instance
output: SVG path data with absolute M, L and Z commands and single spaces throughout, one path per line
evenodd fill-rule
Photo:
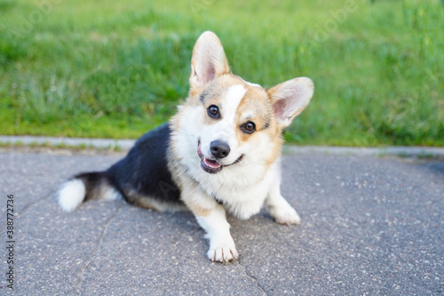
M 289 142 L 444 145 L 439 0 L 0 0 L 0 20 L 0 134 L 138 138 L 185 100 L 210 29 L 248 81 L 313 79 Z

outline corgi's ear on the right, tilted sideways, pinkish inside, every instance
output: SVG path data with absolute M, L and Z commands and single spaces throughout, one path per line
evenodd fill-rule
M 313 97 L 314 84 L 310 78 L 299 77 L 278 84 L 267 92 L 273 100 L 277 124 L 283 129 L 307 107 Z

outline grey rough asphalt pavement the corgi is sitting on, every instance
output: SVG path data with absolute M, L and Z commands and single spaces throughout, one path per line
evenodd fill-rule
M 65 152 L 63 152 L 65 153 Z M 442 295 L 444 162 L 286 155 L 283 196 L 302 218 L 229 217 L 240 260 L 213 263 L 188 212 L 123 201 L 62 212 L 52 193 L 122 156 L 0 150 L 0 294 Z M 102 152 L 100 152 L 102 153 Z M 14 290 L 5 273 L 14 199 Z

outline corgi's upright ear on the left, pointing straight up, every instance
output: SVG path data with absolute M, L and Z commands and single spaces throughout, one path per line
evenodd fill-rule
M 230 66 L 218 36 L 210 31 L 203 32 L 194 45 L 191 59 L 191 88 L 201 88 L 214 78 L 230 73 Z

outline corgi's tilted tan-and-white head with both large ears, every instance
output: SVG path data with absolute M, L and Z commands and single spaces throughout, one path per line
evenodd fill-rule
M 203 171 L 210 173 L 228 166 L 272 164 L 281 152 L 281 130 L 313 96 L 309 78 L 266 90 L 234 76 L 218 36 L 211 32 L 204 32 L 194 45 L 189 82 L 178 121 Z

